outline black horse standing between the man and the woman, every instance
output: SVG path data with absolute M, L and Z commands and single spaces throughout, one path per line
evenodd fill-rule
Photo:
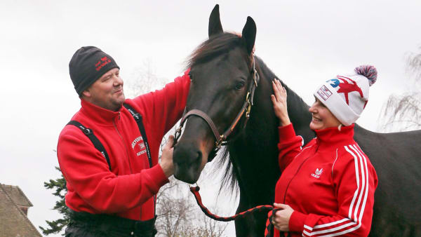
M 219 133 L 227 130 L 249 97 L 250 83 L 255 83 L 255 62 L 260 81 L 248 122 L 242 116 L 227 137 L 230 162 L 226 176 L 239 184 L 237 212 L 271 205 L 281 175 L 276 147 L 279 121 L 270 100 L 271 81 L 276 76 L 253 55 L 256 27 L 252 18 L 248 17 L 241 36 L 223 32 L 217 5 L 210 14 L 208 29 L 209 39 L 189 60 L 192 84 L 186 110 L 203 111 Z M 295 132 L 307 143 L 314 137 L 309 129 L 309 106 L 282 84 L 288 93 L 288 114 Z M 421 180 L 421 130 L 373 133 L 356 125 L 354 139 L 370 158 L 379 178 L 370 236 L 421 236 L 421 184 L 417 182 Z M 189 116 L 174 149 L 175 177 L 196 182 L 214 151 L 213 130 L 203 117 Z M 266 213 L 260 213 L 236 220 L 236 235 L 263 236 L 265 219 Z

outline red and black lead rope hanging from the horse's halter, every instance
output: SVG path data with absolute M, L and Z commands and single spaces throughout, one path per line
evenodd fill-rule
M 233 215 L 231 217 L 220 217 L 218 215 L 213 214 L 212 212 L 210 212 L 210 210 L 208 210 L 208 208 L 206 208 L 202 201 L 201 201 L 201 196 L 199 194 L 199 190 L 200 187 L 196 186 L 196 187 L 190 187 L 190 191 L 192 192 L 192 194 L 194 195 L 194 198 L 196 198 L 196 202 L 197 205 L 199 205 L 200 209 L 203 211 L 203 213 L 205 213 L 206 216 L 215 219 L 217 221 L 220 222 L 230 222 L 234 219 L 238 219 L 243 217 L 244 215 L 251 213 L 251 212 L 259 212 L 259 211 L 268 211 L 267 213 L 267 221 L 266 221 L 266 228 L 265 228 L 265 237 L 269 237 L 269 236 L 273 236 L 272 235 L 272 215 L 274 214 L 274 212 L 278 211 L 279 208 L 274 208 L 273 205 L 258 205 L 255 208 L 250 208 L 244 212 L 240 212 L 236 215 Z

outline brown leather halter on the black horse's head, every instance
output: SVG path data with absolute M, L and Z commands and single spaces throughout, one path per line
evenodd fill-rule
M 218 128 L 216 128 L 215 123 L 213 123 L 212 118 L 210 118 L 205 112 L 199 110 L 199 109 L 191 109 L 187 112 L 187 108 L 184 111 L 184 114 L 180 121 L 180 127 L 175 130 L 174 135 L 174 141 L 177 143 L 178 138 L 180 138 L 182 126 L 184 126 L 185 121 L 189 116 L 198 116 L 199 118 L 202 118 L 206 123 L 208 123 L 208 126 L 210 130 L 212 130 L 213 136 L 215 137 L 215 147 L 210 152 L 208 156 L 208 162 L 212 161 L 213 158 L 215 158 L 216 153 L 219 151 L 221 146 L 227 145 L 229 141 L 227 141 L 227 137 L 232 133 L 236 125 L 239 123 L 241 117 L 243 114 L 246 114 L 246 121 L 244 122 L 243 128 L 246 127 L 246 123 L 248 121 L 248 118 L 250 117 L 250 110 L 251 106 L 253 105 L 253 97 L 255 93 L 255 89 L 258 87 L 258 83 L 260 81 L 260 76 L 258 72 L 255 69 L 255 58 L 253 56 L 253 67 L 251 69 L 250 74 L 253 76 L 253 81 L 250 82 L 250 85 L 248 86 L 248 91 L 246 94 L 246 100 L 243 103 L 243 106 L 241 107 L 241 110 L 239 111 L 239 114 L 237 114 L 236 118 L 232 122 L 231 126 L 227 130 L 225 130 L 222 135 L 218 132 Z M 186 113 L 187 112 L 187 113 Z

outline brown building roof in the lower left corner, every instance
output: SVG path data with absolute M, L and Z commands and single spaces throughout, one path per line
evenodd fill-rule
M 32 207 L 19 187 L 0 184 L 0 236 L 41 236 L 19 205 Z

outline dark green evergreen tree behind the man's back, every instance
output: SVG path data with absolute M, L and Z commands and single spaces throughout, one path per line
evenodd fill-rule
M 55 167 L 56 170 L 60 171 L 60 168 Z M 48 235 L 50 233 L 59 233 L 64 229 L 67 224 L 69 224 L 69 209 L 66 206 L 65 203 L 65 195 L 67 193 L 67 186 L 66 186 L 66 180 L 63 175 L 61 175 L 60 178 L 57 180 L 50 180 L 50 182 L 44 182 L 44 187 L 46 189 L 53 189 L 55 190 L 53 195 L 58 196 L 60 199 L 55 202 L 53 210 L 57 210 L 61 215 L 63 215 L 62 218 L 56 219 L 53 221 L 47 221 L 48 227 L 44 229 L 44 227 L 39 226 L 39 229 L 42 230 L 42 233 L 44 235 Z

